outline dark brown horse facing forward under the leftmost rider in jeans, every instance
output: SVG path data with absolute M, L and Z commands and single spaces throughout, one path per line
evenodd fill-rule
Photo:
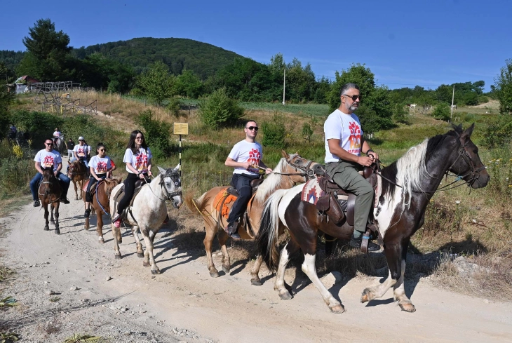
M 44 208 L 44 230 L 48 231 L 48 205 L 50 205 L 51 218 L 50 222 L 55 224 L 55 234 L 60 234 L 59 229 L 59 205 L 60 194 L 62 188 L 60 187 L 59 180 L 53 173 L 53 168 L 43 168 L 43 180 L 39 184 L 39 200 L 41 206 Z M 55 220 L 53 220 L 53 212 L 55 212 Z

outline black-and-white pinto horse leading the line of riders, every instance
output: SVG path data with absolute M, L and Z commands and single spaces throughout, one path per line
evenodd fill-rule
M 400 308 L 415 311 L 403 285 L 405 258 L 412 234 L 424 223 L 429 200 L 449 171 L 457 174 L 471 188 L 485 187 L 489 181 L 489 174 L 478 156 L 478 148 L 470 139 L 473 126 L 464 132 L 462 126 L 454 126 L 454 130 L 444 135 L 424 140 L 382 170 L 382 196 L 373 216 L 384 240 L 389 276 L 384 283 L 366 288 L 361 302 L 382 297 L 393 287 L 394 298 L 398 300 Z M 332 220 L 323 220 L 316 206 L 301 200 L 303 187 L 299 185 L 288 191 L 276 191 L 265 203 L 258 237 L 260 254 L 271 269 L 275 270 L 278 265 L 274 289 L 281 299 L 288 300 L 292 295 L 285 287 L 285 267 L 290 255 L 302 249 L 302 271 L 314 283 L 329 309 L 341 313 L 344 311 L 343 305 L 316 275 L 316 236 L 323 231 L 333 237 L 349 239 L 353 229 L 349 229 L 346 222 L 337 226 Z M 281 250 L 278 262 L 276 238 L 280 224 L 288 227 L 290 241 Z

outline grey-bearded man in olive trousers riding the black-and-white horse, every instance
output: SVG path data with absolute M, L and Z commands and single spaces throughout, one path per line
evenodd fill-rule
M 361 122 L 353 113 L 361 102 L 360 94 L 356 83 L 344 84 L 339 92 L 341 105 L 323 124 L 327 172 L 339 187 L 356 194 L 354 231 L 349 243 L 353 248 L 361 248 L 362 236 L 366 231 L 368 215 L 374 201 L 370 182 L 358 171 L 370 166 L 379 158 L 365 141 Z M 366 156 L 361 156 L 361 152 Z M 368 242 L 368 251 L 377 250 L 380 250 L 379 245 Z

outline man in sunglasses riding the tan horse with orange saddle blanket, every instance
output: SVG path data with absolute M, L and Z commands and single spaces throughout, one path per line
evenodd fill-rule
M 231 212 L 227 218 L 228 224 L 224 229 L 234 239 L 240 239 L 240 235 L 236 231 L 238 220 L 252 196 L 250 182 L 260 177 L 260 169 L 265 170 L 267 174 L 272 173 L 271 168 L 267 168 L 262 161 L 261 144 L 256 142 L 257 123 L 253 120 L 247 121 L 243 131 L 245 132 L 245 140 L 241 140 L 234 145 L 224 163 L 228 167 L 235 168 L 231 185 L 238 191 L 238 198 L 231 207 Z

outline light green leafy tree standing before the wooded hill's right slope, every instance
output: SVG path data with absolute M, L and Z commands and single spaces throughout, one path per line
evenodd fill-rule
M 137 87 L 158 105 L 173 96 L 174 84 L 175 77 L 169 74 L 169 67 L 160 61 L 155 62 L 147 72 L 137 77 Z

